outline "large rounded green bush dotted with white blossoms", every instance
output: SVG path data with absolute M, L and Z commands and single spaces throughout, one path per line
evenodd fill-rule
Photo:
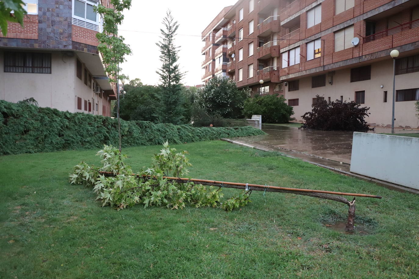
M 199 105 L 209 115 L 223 118 L 242 118 L 244 101 L 250 96 L 248 89 L 238 89 L 225 77 L 213 77 L 199 90 Z

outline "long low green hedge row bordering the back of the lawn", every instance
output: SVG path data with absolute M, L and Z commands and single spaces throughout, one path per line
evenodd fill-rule
M 264 134 L 249 126 L 196 128 L 124 120 L 121 133 L 124 147 Z M 118 146 L 117 119 L 0 100 L 0 155 L 101 148 L 103 144 Z

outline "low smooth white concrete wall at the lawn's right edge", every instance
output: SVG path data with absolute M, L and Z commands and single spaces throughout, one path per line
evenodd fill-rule
M 419 189 L 419 138 L 354 132 L 351 172 Z

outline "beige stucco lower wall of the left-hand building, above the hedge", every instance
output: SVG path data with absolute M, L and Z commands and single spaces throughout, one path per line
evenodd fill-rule
M 52 52 L 51 74 L 5 73 L 4 50 L 0 50 L 0 98 L 8 102 L 33 97 L 40 107 L 56 108 L 71 113 L 88 113 L 84 110 L 84 100 L 92 102 L 92 114 L 102 115 L 102 105 L 107 98 L 99 98 L 76 76 L 76 56 L 68 57 L 59 51 Z M 84 69 L 83 69 L 84 71 Z M 92 82 L 93 84 L 93 82 Z M 93 87 L 93 85 L 92 85 Z M 82 98 L 82 110 L 77 110 L 77 97 Z M 94 104 L 98 102 L 98 112 Z

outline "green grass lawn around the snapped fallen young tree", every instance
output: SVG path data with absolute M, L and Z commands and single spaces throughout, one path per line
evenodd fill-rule
M 358 228 L 331 230 L 347 206 L 255 191 L 251 204 L 224 212 L 101 207 L 91 189 L 68 184 L 96 150 L 0 157 L 1 278 L 417 278 L 418 196 L 336 174 L 298 159 L 222 141 L 189 151 L 191 177 L 360 192 Z M 124 148 L 133 169 L 160 146 Z M 225 197 L 237 193 L 223 189 Z M 348 197 L 349 198 L 349 197 Z

